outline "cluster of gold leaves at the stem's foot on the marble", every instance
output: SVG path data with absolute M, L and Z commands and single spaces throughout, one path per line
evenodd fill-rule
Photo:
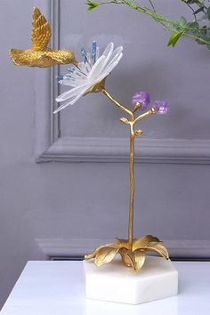
M 133 239 L 132 245 L 127 239 L 116 238 L 114 243 L 97 247 L 93 253 L 86 254 L 85 260 L 94 259 L 97 267 L 110 263 L 120 254 L 126 267 L 133 268 L 134 271 L 140 271 L 145 263 L 146 254 L 156 252 L 160 256 L 169 259 L 169 254 L 165 244 L 152 235 L 146 235 L 142 238 Z

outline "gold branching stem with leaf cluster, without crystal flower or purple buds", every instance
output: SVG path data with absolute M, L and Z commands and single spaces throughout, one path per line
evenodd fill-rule
M 135 138 L 141 137 L 141 129 L 135 129 L 135 124 L 141 119 L 149 117 L 156 113 L 155 109 L 149 109 L 145 113 L 135 117 L 135 113 L 141 108 L 141 103 L 136 103 L 133 110 L 126 108 L 119 103 L 110 93 L 105 89 L 101 90 L 110 101 L 117 107 L 123 110 L 128 117 L 121 117 L 120 121 L 129 126 L 130 129 L 130 202 L 129 202 L 129 222 L 128 222 L 128 239 L 116 239 L 114 243 L 99 246 L 93 253 L 86 254 L 85 259 L 89 260 L 94 258 L 94 263 L 101 266 L 105 263 L 110 263 L 116 254 L 120 254 L 122 261 L 127 267 L 132 267 L 134 271 L 141 270 L 145 262 L 145 256 L 149 251 L 156 252 L 168 259 L 169 255 L 166 246 L 158 238 L 152 235 L 143 236 L 142 238 L 133 238 L 133 217 L 134 217 L 134 149 Z

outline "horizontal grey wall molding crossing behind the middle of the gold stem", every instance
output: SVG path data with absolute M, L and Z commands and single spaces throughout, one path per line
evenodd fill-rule
M 60 138 L 37 162 L 128 162 L 129 139 Z M 210 140 L 141 139 L 136 141 L 136 162 L 209 164 Z

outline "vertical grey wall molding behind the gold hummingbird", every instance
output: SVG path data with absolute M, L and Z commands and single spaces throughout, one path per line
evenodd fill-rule
M 60 0 L 36 0 L 35 5 L 44 13 L 52 27 L 51 47 L 60 46 Z M 60 135 L 60 114 L 53 115 L 57 104 L 55 97 L 59 94 L 59 85 L 55 77 L 59 66 L 50 69 L 36 69 L 36 159 L 44 156 L 44 152 L 53 146 Z

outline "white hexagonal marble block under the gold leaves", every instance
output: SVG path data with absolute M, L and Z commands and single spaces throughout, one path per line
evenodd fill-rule
M 125 267 L 117 257 L 96 267 L 84 261 L 86 298 L 139 304 L 164 299 L 178 293 L 178 272 L 162 257 L 147 256 L 141 271 Z

